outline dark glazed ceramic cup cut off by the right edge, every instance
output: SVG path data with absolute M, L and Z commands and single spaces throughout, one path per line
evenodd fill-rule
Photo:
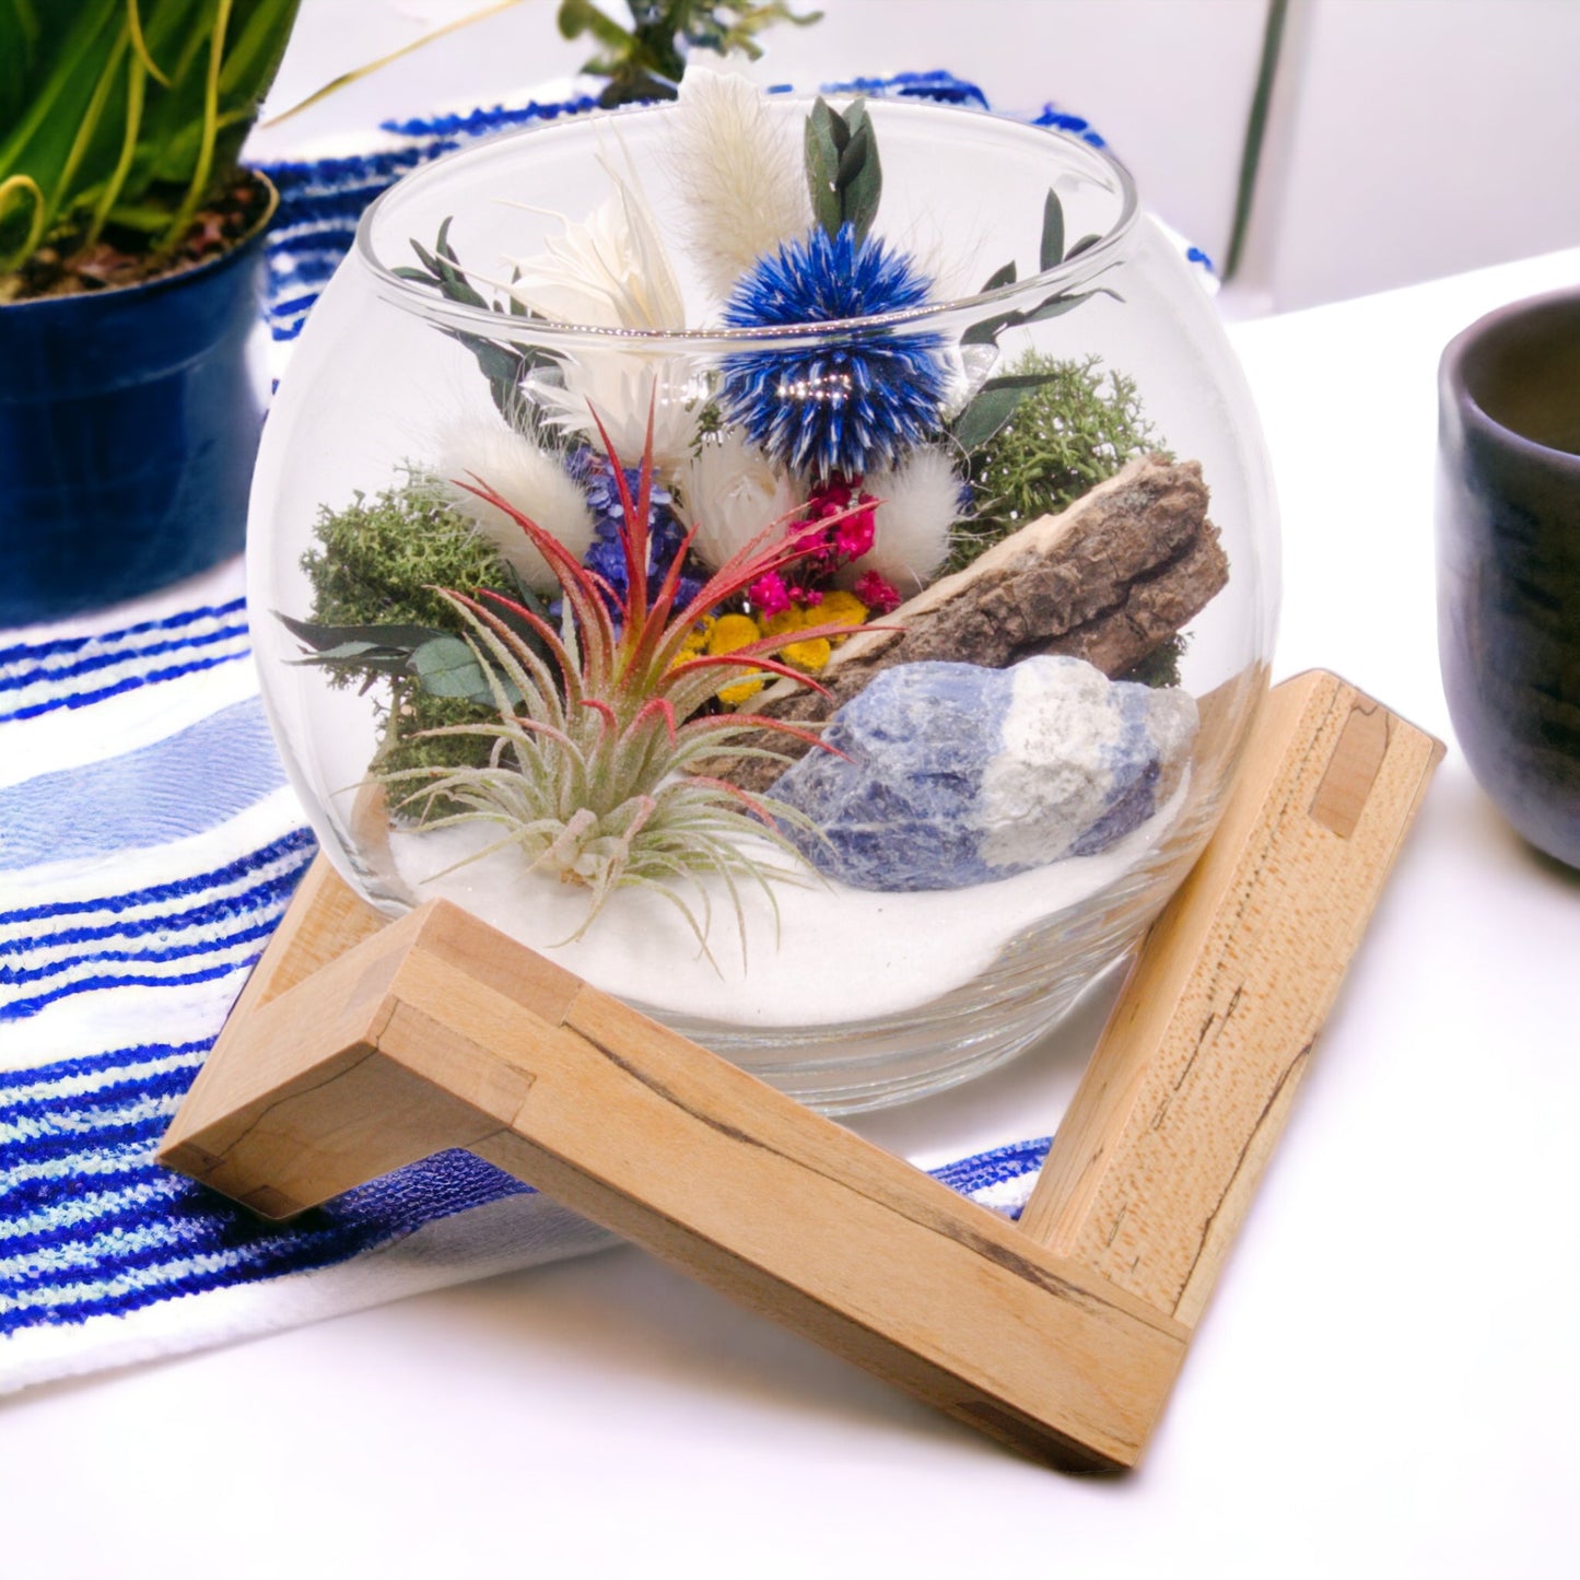
M 1580 867 L 1580 289 L 1501 308 L 1438 373 L 1438 651 L 1471 773 Z

